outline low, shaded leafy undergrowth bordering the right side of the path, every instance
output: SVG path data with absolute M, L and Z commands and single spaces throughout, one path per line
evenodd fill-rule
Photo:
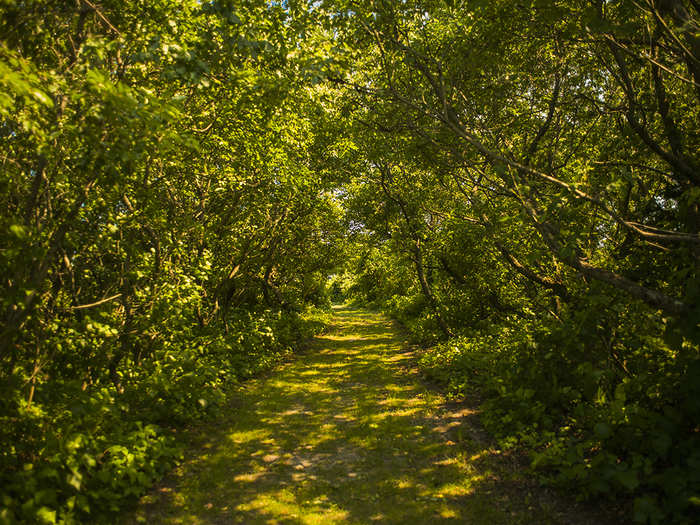
M 549 323 L 516 317 L 455 326 L 445 339 L 420 294 L 375 297 L 374 305 L 424 346 L 427 377 L 456 398 L 482 401 L 486 429 L 502 448 L 527 453 L 542 483 L 608 501 L 636 522 L 693 522 L 697 346 L 673 350 L 659 335 L 664 326 L 643 313 L 610 319 L 586 308 Z

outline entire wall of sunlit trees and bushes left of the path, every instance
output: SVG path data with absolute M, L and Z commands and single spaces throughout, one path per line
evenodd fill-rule
M 343 232 L 297 14 L 0 6 L 0 522 L 123 506 L 319 329 Z

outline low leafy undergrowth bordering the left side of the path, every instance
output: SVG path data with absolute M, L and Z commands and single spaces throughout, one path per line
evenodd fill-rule
M 119 388 L 65 377 L 37 388 L 31 404 L 4 399 L 0 523 L 111 519 L 178 461 L 188 426 L 215 417 L 231 388 L 324 326 L 322 311 L 232 317 L 226 335 L 173 334 L 125 361 Z

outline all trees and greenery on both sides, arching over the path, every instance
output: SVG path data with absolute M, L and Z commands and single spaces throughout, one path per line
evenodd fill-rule
M 695 0 L 0 15 L 0 520 L 148 486 L 335 282 L 545 480 L 689 522 Z

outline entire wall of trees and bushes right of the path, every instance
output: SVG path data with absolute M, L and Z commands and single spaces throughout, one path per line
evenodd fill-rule
M 690 522 L 697 5 L 323 4 L 357 53 L 352 290 L 541 479 Z

